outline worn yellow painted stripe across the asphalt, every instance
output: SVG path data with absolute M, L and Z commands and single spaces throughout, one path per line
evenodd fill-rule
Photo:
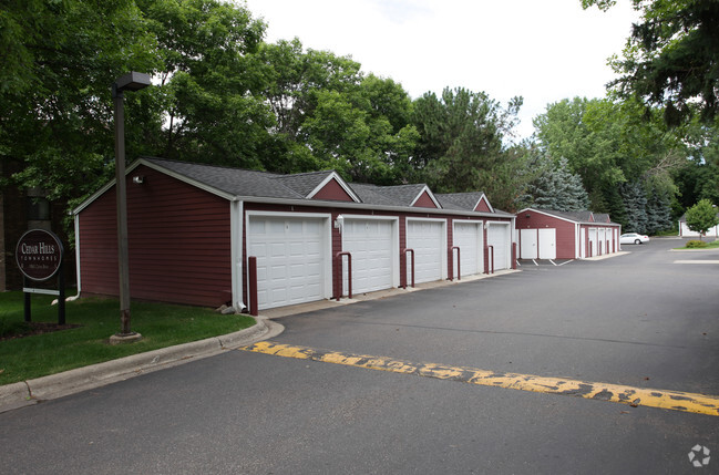
M 420 376 L 453 380 L 485 386 L 618 402 L 629 404 L 634 407 L 643 405 L 719 416 L 719 396 L 681 391 L 664 391 L 619 384 L 592 383 L 563 378 L 536 376 L 532 374 L 497 373 L 494 371 L 465 366 L 411 363 L 386 357 L 347 354 L 338 351 L 280 344 L 271 341 L 260 341 L 249 347 L 243 347 L 239 350 L 300 360 L 312 360 L 325 363 L 366 368 L 369 370 L 390 371 L 401 374 L 417 374 Z

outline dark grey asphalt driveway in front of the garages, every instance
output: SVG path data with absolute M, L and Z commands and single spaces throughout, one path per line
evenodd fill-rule
M 681 242 L 287 317 L 273 343 L 719 395 L 719 266 L 701 264 L 719 252 Z M 0 457 L 9 473 L 718 472 L 716 415 L 409 373 L 230 351 L 0 414 Z

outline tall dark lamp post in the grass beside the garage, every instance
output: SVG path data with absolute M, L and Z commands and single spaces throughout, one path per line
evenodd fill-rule
M 125 189 L 125 110 L 123 93 L 140 91 L 150 85 L 150 75 L 130 72 L 112 85 L 115 104 L 115 189 L 117 190 L 117 262 L 120 270 L 120 333 L 111 343 L 136 341 L 140 333 L 130 329 L 130 264 L 127 258 L 127 194 Z

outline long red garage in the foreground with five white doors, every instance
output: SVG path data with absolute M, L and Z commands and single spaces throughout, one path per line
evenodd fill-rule
M 133 298 L 259 309 L 510 269 L 514 215 L 486 196 L 141 158 L 127 167 Z M 117 295 L 114 182 L 74 209 L 78 286 Z M 458 260 L 460 266 L 458 266 Z M 493 261 L 493 262 L 492 262 Z

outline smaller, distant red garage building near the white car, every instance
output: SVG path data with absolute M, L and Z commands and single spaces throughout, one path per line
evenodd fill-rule
M 525 208 L 515 221 L 521 259 L 582 259 L 619 251 L 609 215 Z

